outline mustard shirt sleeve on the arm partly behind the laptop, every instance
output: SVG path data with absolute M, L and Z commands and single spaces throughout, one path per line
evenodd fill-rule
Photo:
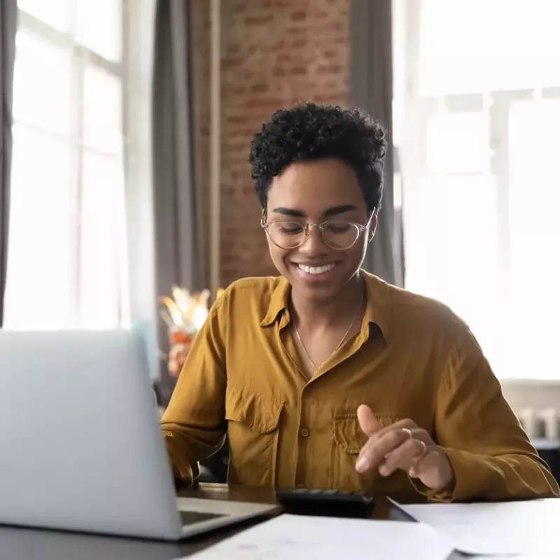
M 199 474 L 198 462 L 220 449 L 225 440 L 225 346 L 220 304 L 190 347 L 169 406 L 162 431 L 174 477 L 188 482 Z

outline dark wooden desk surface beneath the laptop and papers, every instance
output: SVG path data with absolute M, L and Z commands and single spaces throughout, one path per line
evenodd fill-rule
M 194 489 L 181 491 L 179 496 L 274 503 L 272 489 L 228 487 L 225 484 L 200 484 Z M 388 501 L 378 498 L 374 517 L 386 518 L 389 514 Z M 262 517 L 181 543 L 0 526 L 0 556 L 10 560 L 172 560 L 199 552 L 260 521 Z

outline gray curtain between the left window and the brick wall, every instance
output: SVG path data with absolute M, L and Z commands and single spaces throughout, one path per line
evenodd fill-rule
M 191 292 L 204 288 L 202 211 L 195 186 L 193 146 L 193 61 L 189 0 L 158 0 L 153 64 L 153 190 L 155 274 L 158 295 L 173 284 Z M 167 329 L 159 324 L 160 349 Z M 162 382 L 167 363 L 162 360 Z

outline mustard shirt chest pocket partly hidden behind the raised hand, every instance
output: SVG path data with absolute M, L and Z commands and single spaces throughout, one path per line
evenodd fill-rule
M 375 414 L 381 428 L 402 420 L 402 416 L 393 414 Z M 381 477 L 377 470 L 359 474 L 356 471 L 356 460 L 360 449 L 368 442 L 369 437 L 363 433 L 356 414 L 339 414 L 333 419 L 332 433 L 332 477 L 333 486 L 340 490 L 362 492 L 386 492 L 406 484 L 404 472 L 395 472 L 391 477 Z

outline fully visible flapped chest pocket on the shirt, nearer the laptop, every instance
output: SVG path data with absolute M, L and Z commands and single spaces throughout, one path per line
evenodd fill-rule
M 270 395 L 228 387 L 225 419 L 230 443 L 230 484 L 274 486 L 282 409 L 283 401 Z

